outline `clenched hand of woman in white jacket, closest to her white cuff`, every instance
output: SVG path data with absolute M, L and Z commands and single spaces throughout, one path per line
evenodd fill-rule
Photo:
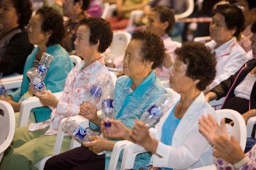
M 149 152 L 156 153 L 158 141 L 151 138 L 148 127 L 143 122 L 139 120 L 135 122 L 130 136 L 132 142 L 143 146 Z

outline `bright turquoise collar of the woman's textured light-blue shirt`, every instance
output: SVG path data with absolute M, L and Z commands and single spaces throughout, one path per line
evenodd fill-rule
M 147 87 L 156 80 L 156 74 L 154 71 L 151 71 L 150 74 L 142 81 L 142 83 L 133 91 L 131 92 L 130 87 L 132 84 L 132 79 L 129 78 L 127 83 L 125 84 L 124 91 L 131 93 L 134 97 L 141 97 L 145 94 L 145 91 L 147 90 Z

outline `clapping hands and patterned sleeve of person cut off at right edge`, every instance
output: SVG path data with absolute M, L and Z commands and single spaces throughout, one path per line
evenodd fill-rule
M 217 169 L 255 169 L 256 145 L 250 152 L 244 153 L 234 136 L 228 138 L 225 121 L 219 126 L 216 119 L 209 115 L 199 120 L 200 132 L 214 147 L 213 156 Z

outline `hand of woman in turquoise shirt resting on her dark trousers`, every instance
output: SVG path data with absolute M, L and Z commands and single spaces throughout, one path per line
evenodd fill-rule
M 104 150 L 113 150 L 115 143 L 113 143 L 112 141 L 108 141 L 107 139 L 104 139 L 100 136 L 92 136 L 91 138 L 93 141 L 83 143 L 82 146 L 88 147 L 90 150 L 92 150 L 93 153 L 100 153 Z

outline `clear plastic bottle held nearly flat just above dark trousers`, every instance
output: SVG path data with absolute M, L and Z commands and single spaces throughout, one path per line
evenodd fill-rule
M 94 132 L 89 127 L 84 128 L 71 118 L 65 120 L 62 125 L 62 131 L 72 133 L 72 138 L 76 139 L 79 143 L 90 142 L 92 141 L 91 136 L 99 135 L 99 132 Z

